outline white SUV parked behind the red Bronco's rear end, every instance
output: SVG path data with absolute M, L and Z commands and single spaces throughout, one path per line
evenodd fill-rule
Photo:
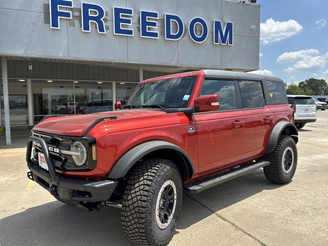
M 294 110 L 295 126 L 300 129 L 306 123 L 317 121 L 317 106 L 312 96 L 287 95 L 288 103 Z

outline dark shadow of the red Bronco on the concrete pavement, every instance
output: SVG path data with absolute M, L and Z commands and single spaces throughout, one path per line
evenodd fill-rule
M 193 195 L 183 196 L 177 229 L 193 224 L 263 190 L 280 186 L 267 181 L 260 170 Z M 203 208 L 206 204 L 211 210 Z M 14 245 L 130 245 L 121 229 L 120 210 L 107 207 L 86 212 L 57 201 L 17 213 L 0 221 L 0 243 Z

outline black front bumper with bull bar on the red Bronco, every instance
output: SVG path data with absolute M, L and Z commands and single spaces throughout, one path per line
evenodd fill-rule
M 40 168 L 38 163 L 31 159 L 32 142 L 39 142 L 47 160 L 49 172 Z M 40 186 L 47 189 L 53 196 L 76 205 L 85 202 L 107 201 L 113 194 L 117 181 L 114 180 L 87 180 L 59 175 L 55 172 L 47 145 L 40 137 L 30 137 L 26 153 L 27 166 L 31 170 L 28 177 Z

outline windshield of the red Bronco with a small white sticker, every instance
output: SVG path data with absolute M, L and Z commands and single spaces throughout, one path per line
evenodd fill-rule
M 139 84 L 125 107 L 187 108 L 196 79 L 192 76 Z

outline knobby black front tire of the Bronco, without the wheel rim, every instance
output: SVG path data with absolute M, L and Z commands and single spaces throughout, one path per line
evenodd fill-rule
M 168 227 L 156 222 L 157 196 L 167 180 L 176 188 L 176 207 Z M 182 181 L 172 160 L 149 158 L 131 172 L 122 201 L 122 228 L 135 245 L 166 245 L 173 237 L 182 204 Z

